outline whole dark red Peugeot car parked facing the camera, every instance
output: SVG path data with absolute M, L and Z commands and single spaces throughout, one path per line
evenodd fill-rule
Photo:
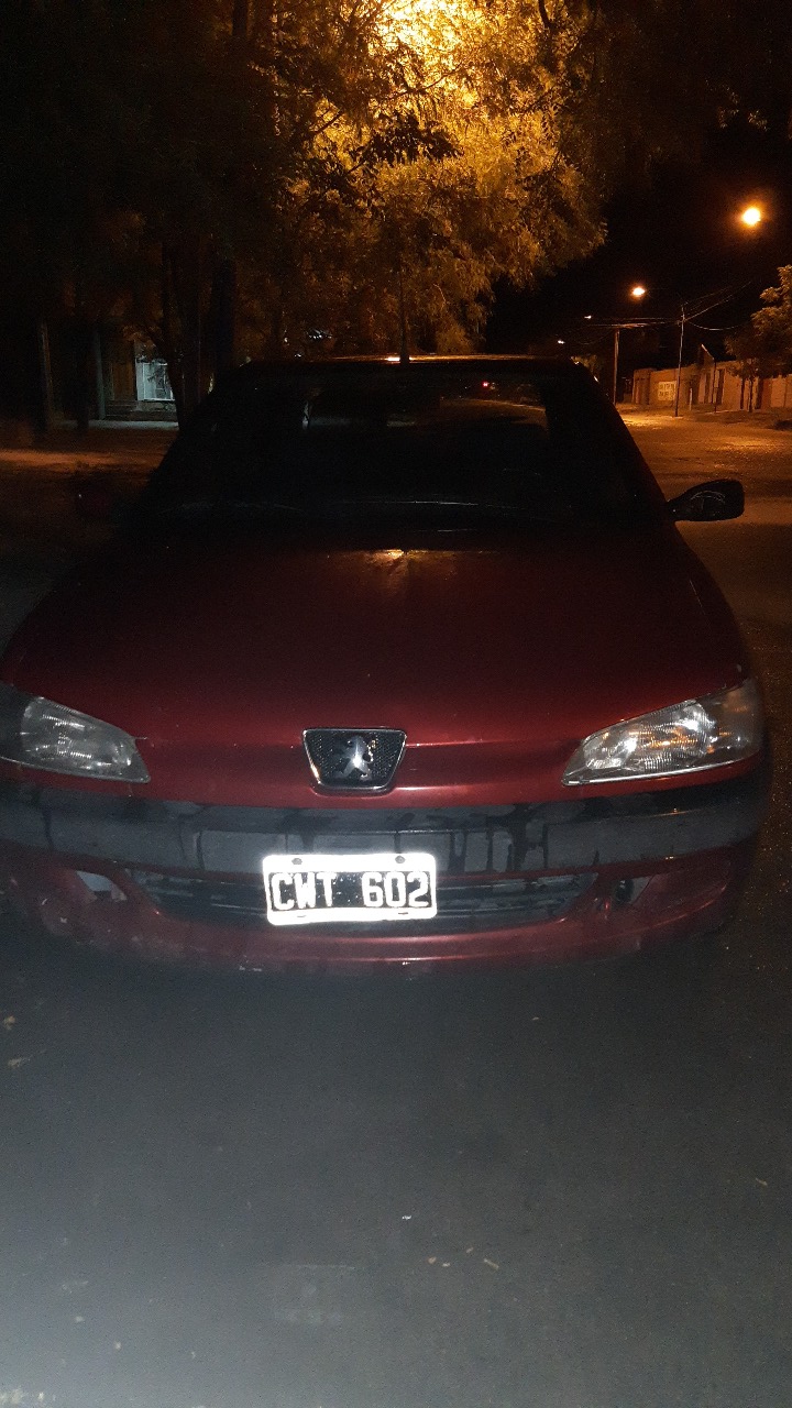
M 720 926 L 761 698 L 579 366 L 247 366 L 11 642 L 7 893 L 240 967 L 633 950 Z

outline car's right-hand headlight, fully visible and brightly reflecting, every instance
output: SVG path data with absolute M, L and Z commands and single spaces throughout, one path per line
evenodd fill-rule
M 629 777 L 671 777 L 758 753 L 764 714 L 754 680 L 685 700 L 589 734 L 564 772 L 567 786 Z

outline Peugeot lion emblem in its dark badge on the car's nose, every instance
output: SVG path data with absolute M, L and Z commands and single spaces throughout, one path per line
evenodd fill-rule
M 399 728 L 306 728 L 311 773 L 330 791 L 385 791 L 404 752 Z

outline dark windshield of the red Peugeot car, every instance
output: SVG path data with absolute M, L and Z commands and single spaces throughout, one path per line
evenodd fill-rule
M 287 369 L 210 397 L 152 476 L 144 513 L 434 529 L 614 518 L 641 501 L 630 451 L 596 389 L 568 372 Z

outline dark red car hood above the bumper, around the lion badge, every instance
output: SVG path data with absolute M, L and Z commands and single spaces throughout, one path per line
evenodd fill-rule
M 303 729 L 404 729 L 395 788 L 366 800 L 393 805 L 551 800 L 582 736 L 740 669 L 723 600 L 657 529 L 444 551 L 127 548 L 38 607 L 4 677 L 127 729 L 149 791 L 172 800 L 330 804 Z

